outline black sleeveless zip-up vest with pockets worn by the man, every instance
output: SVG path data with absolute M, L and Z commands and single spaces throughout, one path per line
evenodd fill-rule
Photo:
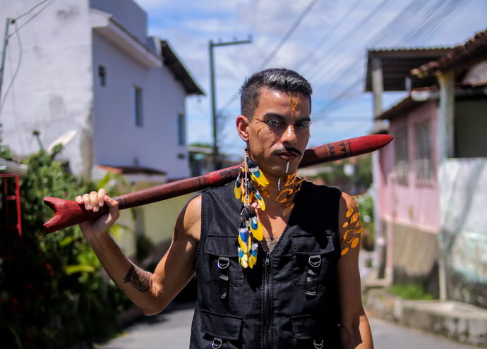
M 274 249 L 239 264 L 234 182 L 202 194 L 190 348 L 339 348 L 336 188 L 303 182 Z

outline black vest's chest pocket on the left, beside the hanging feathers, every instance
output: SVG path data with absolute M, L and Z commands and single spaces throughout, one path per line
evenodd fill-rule
M 245 276 L 239 264 L 236 236 L 208 235 L 204 251 L 209 258 L 212 283 L 219 285 L 220 298 L 227 297 L 228 286 L 244 285 Z

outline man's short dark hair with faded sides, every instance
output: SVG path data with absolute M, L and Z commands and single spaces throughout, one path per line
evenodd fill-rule
M 253 118 L 253 113 L 259 105 L 262 87 L 281 92 L 301 92 L 309 99 L 309 111 L 311 113 L 313 89 L 310 83 L 295 71 L 286 68 L 272 68 L 254 73 L 250 78 L 246 78 L 244 85 L 242 85 L 240 89 L 240 112 L 247 118 Z

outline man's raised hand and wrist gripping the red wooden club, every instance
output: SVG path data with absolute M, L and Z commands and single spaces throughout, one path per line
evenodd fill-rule
M 90 192 L 90 194 L 77 196 L 76 202 L 78 202 L 78 204 L 84 204 L 85 209 L 92 212 L 98 212 L 98 209 L 105 204 L 109 207 L 109 212 L 107 214 L 104 214 L 98 219 L 80 224 L 83 236 L 88 241 L 100 238 L 102 235 L 107 234 L 110 227 L 117 219 L 119 219 L 119 202 L 109 197 L 107 195 L 107 190 L 104 190 L 103 188 L 98 192 Z

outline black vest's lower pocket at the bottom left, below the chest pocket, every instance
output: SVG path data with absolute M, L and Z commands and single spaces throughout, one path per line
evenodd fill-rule
M 241 327 L 242 317 L 201 310 L 201 331 L 211 345 L 208 348 L 236 348 Z

